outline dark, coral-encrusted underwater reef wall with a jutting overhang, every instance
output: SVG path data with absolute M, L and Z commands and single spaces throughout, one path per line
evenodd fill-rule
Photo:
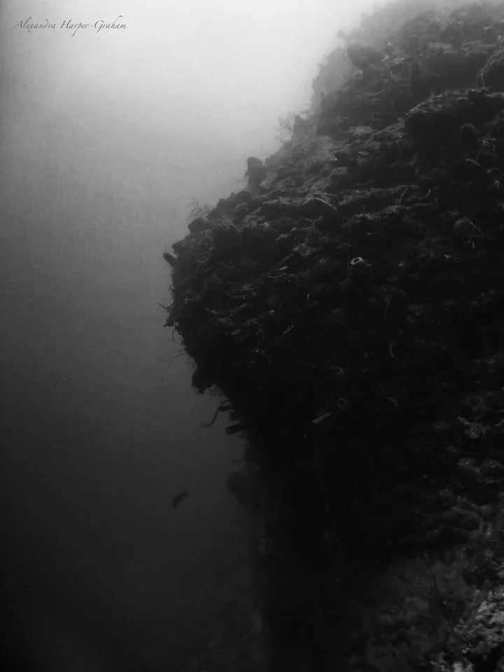
M 504 5 L 395 3 L 344 38 L 253 193 L 174 244 L 169 323 L 265 475 L 272 667 L 491 672 Z

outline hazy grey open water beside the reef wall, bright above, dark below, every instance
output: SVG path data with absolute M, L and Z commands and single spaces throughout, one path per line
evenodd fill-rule
M 0 594 L 14 672 L 185 670 L 226 601 L 248 529 L 225 489 L 242 446 L 223 417 L 200 428 L 219 399 L 190 388 L 158 302 L 192 198 L 244 187 L 246 157 L 271 153 L 279 115 L 306 106 L 341 20 L 325 0 L 263 5 L 0 3 Z M 125 31 L 60 27 L 120 14 Z

